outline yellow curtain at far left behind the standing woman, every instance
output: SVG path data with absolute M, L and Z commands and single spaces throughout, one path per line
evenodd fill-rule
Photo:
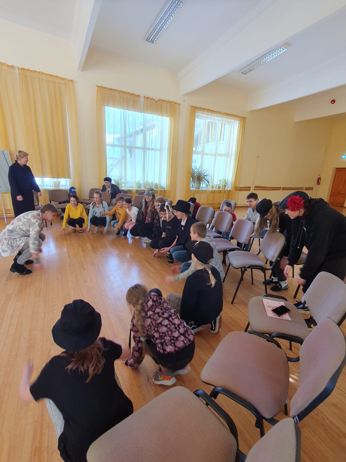
M 0 145 L 13 162 L 16 151 L 29 152 L 36 177 L 69 178 L 80 194 L 73 80 L 0 63 Z M 4 196 L 12 212 L 11 197 Z M 45 191 L 40 202 L 48 202 Z

